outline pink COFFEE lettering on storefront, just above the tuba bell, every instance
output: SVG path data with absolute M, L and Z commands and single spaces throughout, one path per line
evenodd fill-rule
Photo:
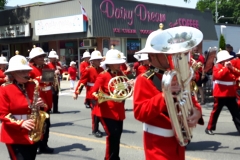
M 198 20 L 186 19 L 186 18 L 179 18 L 175 22 L 169 23 L 169 27 L 176 27 L 176 26 L 189 26 L 189 27 L 199 28 L 199 23 L 198 23 Z

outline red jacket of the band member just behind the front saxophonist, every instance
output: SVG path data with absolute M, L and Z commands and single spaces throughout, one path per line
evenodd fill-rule
M 29 77 L 32 79 L 36 79 L 39 82 L 40 97 L 47 104 L 47 107 L 44 109 L 46 111 L 51 110 L 51 108 L 52 108 L 52 89 L 51 89 L 52 83 L 41 81 L 42 70 L 50 69 L 50 68 L 48 65 L 45 65 L 45 64 L 41 67 L 37 67 L 33 63 L 31 63 L 29 65 L 30 65 L 30 67 L 32 67 L 32 70 L 29 72 Z

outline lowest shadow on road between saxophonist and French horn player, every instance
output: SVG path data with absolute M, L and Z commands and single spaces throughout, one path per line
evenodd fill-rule
M 92 148 L 87 148 L 85 145 L 80 143 L 73 143 L 71 145 L 61 146 L 54 148 L 54 154 L 58 154 L 60 152 L 69 152 L 69 151 L 75 151 L 76 149 L 80 149 L 82 151 L 90 151 Z

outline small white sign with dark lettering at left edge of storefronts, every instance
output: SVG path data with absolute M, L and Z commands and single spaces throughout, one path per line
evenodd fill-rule
M 29 24 L 0 26 L 0 39 L 28 37 L 28 36 L 30 36 Z

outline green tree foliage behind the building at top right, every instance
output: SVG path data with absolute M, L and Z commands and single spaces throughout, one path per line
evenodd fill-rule
M 218 1 L 218 18 L 219 23 L 228 22 L 229 24 L 240 24 L 240 0 L 217 0 Z M 210 10 L 212 12 L 215 21 L 216 12 L 216 0 L 199 0 L 197 2 L 196 9 L 205 11 Z

